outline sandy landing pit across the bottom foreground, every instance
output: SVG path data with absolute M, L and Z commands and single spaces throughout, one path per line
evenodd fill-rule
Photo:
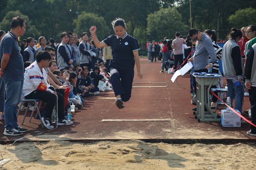
M 0 169 L 255 169 L 255 144 L 167 144 L 139 140 L 1 145 Z

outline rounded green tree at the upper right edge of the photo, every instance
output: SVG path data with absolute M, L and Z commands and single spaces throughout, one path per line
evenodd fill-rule
M 256 25 L 256 9 L 246 8 L 236 11 L 229 16 L 232 27 L 241 28 L 249 25 Z

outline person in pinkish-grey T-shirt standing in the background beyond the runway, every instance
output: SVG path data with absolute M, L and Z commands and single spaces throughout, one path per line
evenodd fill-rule
M 183 38 L 180 38 L 179 32 L 175 33 L 175 37 L 172 47 L 174 49 L 174 69 L 177 69 L 177 67 L 183 63 L 182 46 L 183 44 L 186 44 L 186 41 Z

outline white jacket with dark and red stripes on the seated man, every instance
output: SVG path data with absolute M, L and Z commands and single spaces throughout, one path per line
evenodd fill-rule
M 47 85 L 47 91 L 53 93 L 53 91 L 49 89 L 50 85 L 47 83 L 47 72 L 45 69 L 42 69 L 41 71 L 35 61 L 25 69 L 23 95 L 26 96 L 32 91 L 35 91 L 40 83 Z

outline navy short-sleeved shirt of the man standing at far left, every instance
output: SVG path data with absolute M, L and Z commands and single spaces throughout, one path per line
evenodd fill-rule
M 3 79 L 24 80 L 23 57 L 19 51 L 17 36 L 10 31 L 3 37 L 0 43 L 0 57 L 10 54 L 10 60 L 6 66 Z

